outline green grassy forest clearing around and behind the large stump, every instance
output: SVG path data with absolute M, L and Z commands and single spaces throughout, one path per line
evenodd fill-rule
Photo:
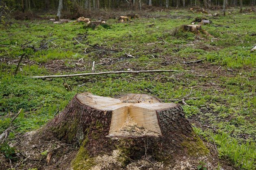
M 20 108 L 23 111 L 13 122 L 16 128 L 8 140 L 43 126 L 75 94 L 84 91 L 110 97 L 145 93 L 163 102 L 180 104 L 179 99 L 185 98 L 188 105 L 182 107 L 186 117 L 197 121 L 199 126 L 195 131 L 204 130 L 213 136 L 219 157 L 228 158 L 238 168 L 255 168 L 256 53 L 250 51 L 256 42 L 256 37 L 250 36 L 256 30 L 255 13 L 242 15 L 237 9 L 232 13 L 226 17 L 209 17 L 184 10 L 152 12 L 152 17 L 129 23 L 109 19 L 109 27 L 95 29 L 85 28 L 83 23 L 53 24 L 46 20 L 19 21 L 8 28 L 0 26 L 2 38 L 25 28 L 25 23 L 29 26 L 0 42 L 0 133 L 9 127 Z M 175 28 L 191 23 L 195 17 L 213 21 L 203 28 L 214 38 L 189 32 L 174 34 Z M 48 40 L 53 40 L 47 44 L 48 49 L 35 50 Z M 23 53 L 25 65 L 14 76 L 17 56 Z M 114 62 L 102 65 L 106 58 Z M 203 58 L 206 60 L 202 63 L 183 63 Z M 64 89 L 63 79 L 29 78 L 88 72 L 93 61 L 96 72 L 128 69 L 195 72 L 65 78 L 73 89 L 71 92 Z M 49 69 L 53 66 L 57 67 L 54 72 Z

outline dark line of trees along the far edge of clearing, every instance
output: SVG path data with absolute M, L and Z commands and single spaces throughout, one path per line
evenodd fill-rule
M 223 14 L 227 6 L 255 5 L 256 0 L 0 0 L 1 5 L 15 11 L 45 12 L 56 11 L 61 17 L 61 11 L 76 13 L 77 11 L 92 11 L 94 9 L 132 9 L 141 10 L 150 6 L 171 8 L 199 6 L 213 8 L 222 6 Z

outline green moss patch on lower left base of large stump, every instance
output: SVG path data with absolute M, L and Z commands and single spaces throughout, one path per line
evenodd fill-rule
M 94 158 L 89 156 L 89 153 L 86 149 L 86 144 L 88 143 L 88 136 L 82 142 L 80 149 L 76 155 L 76 158 L 72 161 L 72 168 L 74 170 L 88 170 L 91 167 L 95 166 Z

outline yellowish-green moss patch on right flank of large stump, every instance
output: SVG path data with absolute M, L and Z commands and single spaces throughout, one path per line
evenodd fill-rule
M 204 145 L 203 141 L 192 132 L 192 139 L 187 138 L 184 140 L 181 145 L 187 149 L 189 155 L 207 155 L 210 151 Z

